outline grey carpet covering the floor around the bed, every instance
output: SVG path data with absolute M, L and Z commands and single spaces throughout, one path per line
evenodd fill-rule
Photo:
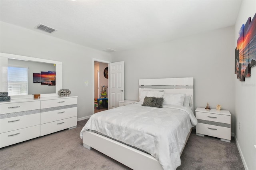
M 0 149 L 1 170 L 129 170 L 130 168 L 92 149 L 83 147 L 78 127 Z M 178 170 L 243 170 L 238 148 L 218 138 L 192 132 Z

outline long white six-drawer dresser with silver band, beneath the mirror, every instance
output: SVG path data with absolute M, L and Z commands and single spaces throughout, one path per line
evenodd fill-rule
M 76 96 L 0 103 L 0 148 L 76 126 Z

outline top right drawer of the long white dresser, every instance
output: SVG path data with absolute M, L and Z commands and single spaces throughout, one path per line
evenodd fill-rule
M 54 100 L 46 100 L 41 101 L 41 109 L 50 108 L 50 107 L 59 107 L 59 106 L 66 106 L 66 105 L 74 105 L 77 104 L 77 98 L 60 98 Z

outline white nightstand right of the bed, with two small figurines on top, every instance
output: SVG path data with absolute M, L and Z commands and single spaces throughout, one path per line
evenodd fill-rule
M 196 108 L 196 134 L 214 136 L 225 142 L 231 139 L 231 114 L 226 110 Z

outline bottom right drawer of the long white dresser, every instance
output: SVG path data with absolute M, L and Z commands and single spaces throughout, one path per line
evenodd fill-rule
M 57 132 L 66 128 L 77 126 L 77 117 L 71 117 L 60 121 L 41 124 L 40 136 Z

